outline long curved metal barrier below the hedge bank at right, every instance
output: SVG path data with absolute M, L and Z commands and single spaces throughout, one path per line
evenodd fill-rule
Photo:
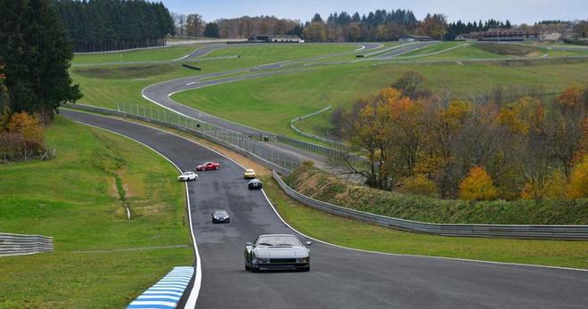
M 275 171 L 274 179 L 292 199 L 324 212 L 408 232 L 442 236 L 499 237 L 541 240 L 588 240 L 588 225 L 502 225 L 502 224 L 428 224 L 375 215 L 312 199 L 290 188 Z

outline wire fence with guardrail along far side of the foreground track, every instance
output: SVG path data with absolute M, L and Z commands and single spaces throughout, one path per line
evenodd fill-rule
M 166 126 L 176 130 L 184 131 L 216 142 L 225 148 L 241 153 L 258 163 L 275 169 L 283 175 L 289 175 L 291 171 L 300 165 L 300 159 L 280 150 L 275 150 L 270 144 L 272 142 L 259 142 L 249 138 L 245 134 L 227 130 L 220 126 L 214 126 L 194 118 L 184 117 L 168 110 L 157 110 L 146 107 L 122 110 L 110 110 L 83 104 L 68 104 L 66 108 L 71 110 L 85 110 L 94 113 L 118 116 L 121 118 L 133 118 L 149 122 L 159 126 Z

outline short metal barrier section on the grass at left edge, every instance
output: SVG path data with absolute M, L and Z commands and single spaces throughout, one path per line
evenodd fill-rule
M 0 256 L 22 256 L 53 251 L 53 237 L 0 233 Z

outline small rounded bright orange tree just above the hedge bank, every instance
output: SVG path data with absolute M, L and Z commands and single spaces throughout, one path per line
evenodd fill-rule
M 460 183 L 460 199 L 490 200 L 497 196 L 498 189 L 484 167 L 472 167 Z

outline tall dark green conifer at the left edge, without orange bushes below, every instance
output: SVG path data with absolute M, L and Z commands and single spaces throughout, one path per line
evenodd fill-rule
M 61 103 L 81 97 L 69 77 L 73 53 L 61 20 L 50 0 L 3 0 L 0 12 L 0 60 L 11 110 L 49 120 Z

